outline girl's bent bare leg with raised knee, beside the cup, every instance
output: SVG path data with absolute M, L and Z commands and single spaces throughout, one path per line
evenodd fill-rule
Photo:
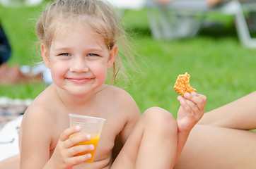
M 173 168 L 177 151 L 177 123 L 162 108 L 141 115 L 111 169 Z

